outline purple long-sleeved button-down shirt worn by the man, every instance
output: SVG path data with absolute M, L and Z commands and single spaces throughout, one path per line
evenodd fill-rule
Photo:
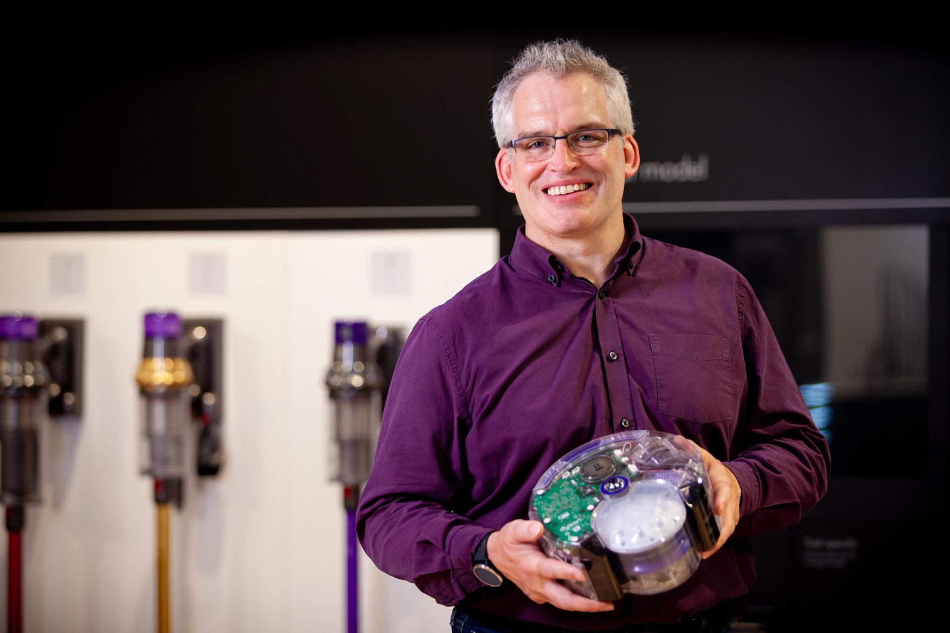
M 597 289 L 519 231 L 510 256 L 431 310 L 396 367 L 357 516 L 376 565 L 443 605 L 578 629 L 674 622 L 745 592 L 744 536 L 796 523 L 825 493 L 829 457 L 748 282 L 723 262 L 643 237 L 624 215 Z M 742 487 L 735 535 L 693 577 L 613 612 L 536 605 L 483 586 L 471 554 L 527 517 L 559 457 L 624 429 L 693 439 Z

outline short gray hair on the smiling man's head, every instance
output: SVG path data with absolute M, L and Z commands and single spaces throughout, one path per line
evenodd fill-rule
M 504 74 L 496 86 L 491 98 L 491 125 L 499 147 L 504 147 L 514 138 L 511 102 L 514 101 L 515 91 L 536 72 L 548 73 L 558 79 L 578 73 L 590 75 L 603 85 L 607 93 L 607 113 L 611 124 L 623 134 L 634 133 L 634 116 L 630 110 L 627 80 L 623 74 L 577 40 L 555 40 L 524 48 L 511 70 Z

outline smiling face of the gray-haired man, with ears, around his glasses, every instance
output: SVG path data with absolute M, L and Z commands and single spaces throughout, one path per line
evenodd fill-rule
M 546 73 L 529 76 L 515 91 L 511 114 L 515 139 L 614 127 L 603 86 L 584 74 L 562 79 Z M 621 221 L 624 179 L 639 166 L 633 137 L 621 140 L 622 144 L 611 137 L 602 153 L 589 156 L 577 156 L 566 140 L 558 140 L 551 158 L 537 162 L 513 150 L 498 153 L 498 179 L 505 191 L 518 197 L 528 237 L 544 243 L 580 238 L 597 234 L 611 218 Z M 552 187 L 575 184 L 586 188 L 570 194 L 548 193 Z

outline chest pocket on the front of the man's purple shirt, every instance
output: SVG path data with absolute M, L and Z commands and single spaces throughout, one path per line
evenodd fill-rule
M 661 414 L 693 422 L 733 416 L 729 340 L 712 334 L 650 334 Z

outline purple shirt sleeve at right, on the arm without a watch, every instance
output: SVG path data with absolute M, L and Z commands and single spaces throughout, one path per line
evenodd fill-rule
M 737 300 L 748 392 L 739 451 L 725 465 L 742 488 L 735 534 L 748 536 L 798 523 L 825 494 L 831 457 L 744 278 Z

